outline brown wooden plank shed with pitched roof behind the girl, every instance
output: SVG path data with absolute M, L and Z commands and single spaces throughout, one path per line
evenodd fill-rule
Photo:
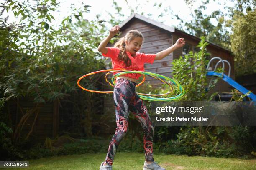
M 121 37 L 125 36 L 125 34 L 129 30 L 138 30 L 144 36 L 144 43 L 139 52 L 147 53 L 147 54 L 155 54 L 161 50 L 164 50 L 170 46 L 172 46 L 178 38 L 183 37 L 186 41 L 186 45 L 183 48 L 175 50 L 170 55 L 165 57 L 162 60 L 156 60 L 152 65 L 145 64 L 145 71 L 154 72 L 157 74 L 161 74 L 167 77 L 172 77 L 172 61 L 174 59 L 178 59 L 180 56 L 188 53 L 189 51 L 197 51 L 197 45 L 200 42 L 200 38 L 187 34 L 181 30 L 178 30 L 174 27 L 164 25 L 163 23 L 157 22 L 155 20 L 151 20 L 149 18 L 144 17 L 143 15 L 133 14 L 127 20 L 125 20 L 120 25 Z M 234 79 L 234 59 L 231 55 L 231 51 L 226 50 L 218 45 L 215 45 L 211 42 L 207 46 L 207 51 L 210 53 L 210 57 L 220 57 L 224 60 L 228 60 L 231 65 L 231 73 L 230 77 Z M 108 44 L 108 47 L 112 47 L 114 44 Z M 210 58 L 209 58 L 210 59 Z M 111 62 L 110 59 L 107 62 Z M 214 67 L 218 60 L 213 62 L 211 67 Z M 228 74 L 228 67 L 225 65 L 225 73 Z M 146 81 L 150 81 L 151 85 L 158 86 L 161 85 L 162 82 L 159 80 L 154 80 L 151 77 L 146 77 Z M 219 81 L 215 86 L 215 89 L 212 92 L 230 92 L 231 86 L 224 81 Z M 113 103 L 109 100 L 108 97 L 104 100 L 104 107 L 110 108 Z

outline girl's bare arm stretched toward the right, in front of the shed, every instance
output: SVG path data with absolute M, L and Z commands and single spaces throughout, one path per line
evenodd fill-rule
M 178 48 L 183 47 L 185 45 L 185 43 L 186 43 L 186 41 L 184 40 L 184 38 L 179 38 L 174 45 L 172 45 L 171 47 L 169 47 L 163 51 L 158 52 L 156 54 L 155 60 L 162 60 L 164 57 L 169 55 L 174 50 L 177 50 Z

